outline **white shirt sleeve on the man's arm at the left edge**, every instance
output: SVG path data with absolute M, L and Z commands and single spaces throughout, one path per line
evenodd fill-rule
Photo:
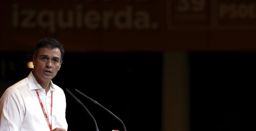
M 18 131 L 22 123 L 23 108 L 19 92 L 7 88 L 0 99 L 0 131 Z

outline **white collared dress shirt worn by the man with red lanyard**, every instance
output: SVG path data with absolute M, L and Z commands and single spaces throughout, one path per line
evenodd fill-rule
M 28 77 L 3 93 L 0 99 L 0 131 L 50 131 L 36 89 L 52 129 L 58 127 L 67 130 L 64 91 L 51 81 L 50 90 L 45 94 L 45 89 L 38 84 L 31 71 Z

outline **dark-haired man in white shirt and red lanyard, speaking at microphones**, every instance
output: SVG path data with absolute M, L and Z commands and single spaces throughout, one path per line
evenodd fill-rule
M 55 39 L 36 44 L 33 71 L 0 99 L 0 131 L 67 131 L 66 97 L 52 82 L 63 55 L 64 48 Z

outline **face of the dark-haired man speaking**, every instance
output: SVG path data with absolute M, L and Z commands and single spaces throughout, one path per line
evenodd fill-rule
M 39 83 L 50 81 L 61 68 L 61 62 L 61 51 L 58 48 L 39 49 L 37 58 L 33 55 L 33 74 L 36 80 Z

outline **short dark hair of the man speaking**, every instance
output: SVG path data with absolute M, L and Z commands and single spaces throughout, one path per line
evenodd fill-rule
M 64 48 L 63 48 L 61 42 L 59 42 L 58 40 L 53 39 L 53 38 L 45 38 L 45 39 L 39 40 L 39 42 L 36 44 L 36 48 L 34 50 L 35 57 L 37 57 L 37 55 L 38 55 L 38 50 L 40 48 L 44 48 L 44 47 L 49 48 L 49 49 L 59 48 L 61 51 L 61 60 L 62 60 L 65 51 L 64 51 Z

